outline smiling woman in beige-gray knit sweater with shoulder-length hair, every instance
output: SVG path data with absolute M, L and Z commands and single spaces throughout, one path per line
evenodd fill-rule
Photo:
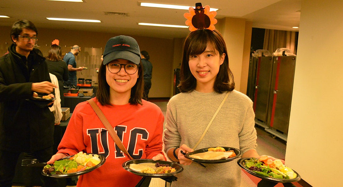
M 241 170 L 236 160 L 202 167 L 181 153 L 225 146 L 240 149 L 242 157 L 260 157 L 256 152 L 252 101 L 234 90 L 226 44 L 217 30 L 198 29 L 187 36 L 180 78 L 181 93 L 168 102 L 164 130 L 165 152 L 172 161 L 184 165 L 173 185 L 239 186 Z M 222 108 L 197 145 L 226 95 Z

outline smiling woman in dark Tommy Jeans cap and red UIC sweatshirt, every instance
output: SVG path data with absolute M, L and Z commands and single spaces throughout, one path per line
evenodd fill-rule
M 116 36 L 107 41 L 98 83 L 96 98 L 92 100 L 130 155 L 134 159 L 164 160 L 164 116 L 157 105 L 142 100 L 143 71 L 135 39 Z M 87 101 L 76 105 L 58 152 L 48 164 L 79 151 L 101 154 L 106 157 L 106 162 L 98 169 L 81 175 L 77 186 L 135 186 L 142 178 L 123 169 L 122 163 L 130 159 L 115 146 Z

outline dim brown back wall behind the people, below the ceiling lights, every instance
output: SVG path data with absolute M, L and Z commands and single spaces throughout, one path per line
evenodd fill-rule
M 47 55 L 51 42 L 54 39 L 60 40 L 62 53 L 70 51 L 73 45 L 81 47 L 81 53 L 76 57 L 78 66 L 91 66 L 90 69 L 83 70 L 82 74 L 78 72 L 78 78 L 96 79 L 94 68 L 99 65 L 100 55 L 109 38 L 125 33 L 96 33 L 86 31 L 64 30 L 64 29 L 38 29 L 38 46 L 44 55 Z M 10 38 L 11 27 L 0 26 L 0 55 L 7 52 L 11 45 Z M 152 87 L 149 97 L 169 98 L 171 96 L 171 84 L 173 83 L 172 74 L 174 67 L 174 40 L 162 38 L 150 38 L 141 36 L 132 36 L 139 44 L 141 50 L 149 52 L 150 61 L 153 65 Z M 94 64 L 94 65 L 91 65 Z M 91 72 L 88 72 L 91 71 Z

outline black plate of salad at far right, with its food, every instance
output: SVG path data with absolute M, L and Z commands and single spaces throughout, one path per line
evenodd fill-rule
M 276 183 L 291 183 L 301 179 L 300 175 L 281 161 L 260 161 L 257 158 L 241 158 L 238 165 L 248 173 L 264 180 Z

